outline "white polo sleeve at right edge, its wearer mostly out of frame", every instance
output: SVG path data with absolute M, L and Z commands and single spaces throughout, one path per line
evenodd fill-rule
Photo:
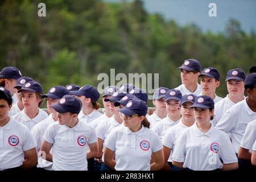
M 246 127 L 245 134 L 243 135 L 240 146 L 248 150 L 251 150 L 251 148 L 253 148 L 253 143 L 255 139 L 256 128 L 255 125 L 253 125 L 253 122 L 250 122 Z

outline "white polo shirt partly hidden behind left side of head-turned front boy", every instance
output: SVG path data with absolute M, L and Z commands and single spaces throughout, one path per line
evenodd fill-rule
M 35 126 L 32 127 L 31 133 L 32 137 L 36 141 L 36 151 L 41 150 L 41 144 L 43 141 L 44 133 L 46 132 L 46 129 L 49 125 L 54 123 L 55 120 L 52 118 L 52 114 L 49 115 L 48 118 L 44 119 L 43 121 L 39 122 Z M 49 162 L 47 160 L 42 159 L 40 156 L 38 156 L 38 168 L 44 168 L 49 171 L 52 170 L 52 162 Z

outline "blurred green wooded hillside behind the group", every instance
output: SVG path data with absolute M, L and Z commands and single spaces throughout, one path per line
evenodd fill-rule
M 38 16 L 40 2 L 46 17 Z M 195 23 L 179 26 L 149 14 L 142 1 L 0 1 L 0 68 L 18 67 L 44 92 L 71 83 L 97 87 L 98 74 L 110 68 L 115 74 L 159 73 L 159 86 L 175 88 L 181 83 L 177 67 L 193 58 L 202 68 L 218 69 L 217 94 L 225 97 L 226 72 L 247 73 L 256 63 L 256 34 L 235 19 L 218 33 L 202 32 Z

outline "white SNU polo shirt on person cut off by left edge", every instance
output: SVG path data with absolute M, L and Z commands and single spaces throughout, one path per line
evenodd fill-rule
M 0 169 L 22 166 L 24 151 L 36 147 L 30 131 L 14 118 L 0 127 Z

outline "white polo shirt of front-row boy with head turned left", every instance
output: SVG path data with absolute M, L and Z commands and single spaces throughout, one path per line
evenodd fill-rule
M 52 143 L 54 171 L 87 171 L 88 143 L 97 142 L 95 130 L 79 121 L 75 127 L 54 122 L 47 127 L 44 140 Z

